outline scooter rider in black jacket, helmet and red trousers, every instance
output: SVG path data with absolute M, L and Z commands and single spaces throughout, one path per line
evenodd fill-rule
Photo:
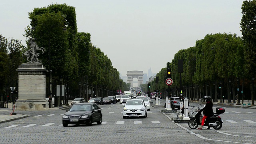
M 203 126 L 204 126 L 204 121 L 208 116 L 211 116 L 214 112 L 212 110 L 212 106 L 213 103 L 211 101 L 211 97 L 210 96 L 204 96 L 204 100 L 206 100 L 206 105 L 204 108 L 202 108 L 201 110 L 198 110 L 199 112 L 203 112 L 204 117 L 202 119 L 202 123 L 200 128 L 198 128 L 199 130 L 202 130 Z M 208 126 L 207 130 L 210 129 L 210 126 Z

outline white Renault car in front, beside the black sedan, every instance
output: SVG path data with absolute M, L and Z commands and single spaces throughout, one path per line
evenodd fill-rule
M 126 104 L 123 104 L 123 118 L 139 116 L 142 118 L 148 117 L 148 110 L 140 99 L 127 100 Z

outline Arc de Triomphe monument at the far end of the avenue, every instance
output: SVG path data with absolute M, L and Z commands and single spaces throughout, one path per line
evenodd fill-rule
M 143 71 L 133 70 L 133 71 L 127 71 L 127 83 L 131 84 L 132 86 L 132 80 L 133 78 L 138 79 L 138 86 L 143 83 Z

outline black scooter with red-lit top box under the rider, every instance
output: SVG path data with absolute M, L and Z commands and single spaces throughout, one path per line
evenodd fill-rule
M 200 104 L 201 103 L 201 104 Z M 202 105 L 202 99 L 198 104 L 198 109 L 200 110 L 200 106 Z M 223 114 L 225 112 L 224 108 L 216 108 L 216 113 L 212 114 L 212 116 L 208 116 L 204 122 L 204 126 L 210 126 L 213 127 L 215 130 L 220 130 L 222 128 L 223 120 L 219 116 L 220 114 Z M 201 112 L 198 112 L 194 117 L 190 118 L 188 121 L 188 126 L 191 129 L 196 129 L 199 125 L 201 125 L 202 122 L 202 114 Z

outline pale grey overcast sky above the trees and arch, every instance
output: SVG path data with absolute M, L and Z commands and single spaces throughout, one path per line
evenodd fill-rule
M 0 34 L 22 40 L 28 12 L 49 4 L 76 8 L 78 32 L 91 34 L 114 68 L 158 73 L 206 34 L 236 33 L 243 0 L 1 0 Z

